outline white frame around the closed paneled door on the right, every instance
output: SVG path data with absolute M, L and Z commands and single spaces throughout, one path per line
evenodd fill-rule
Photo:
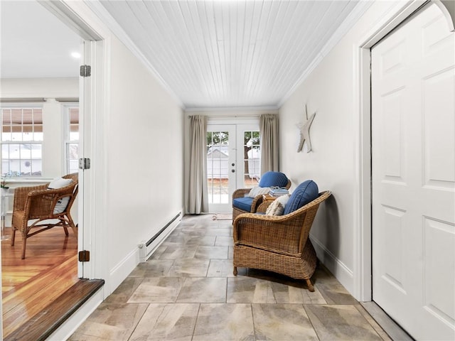
M 434 1 L 440 3 L 440 1 Z M 354 44 L 354 269 L 353 296 L 358 301 L 372 301 L 371 235 L 371 97 L 370 48 L 414 11 L 430 1 L 399 1 L 382 19 Z M 438 4 L 441 9 L 440 4 Z M 443 10 L 444 11 L 444 10 Z M 446 13 L 444 13 L 446 14 Z M 453 28 L 450 16 L 448 29 Z

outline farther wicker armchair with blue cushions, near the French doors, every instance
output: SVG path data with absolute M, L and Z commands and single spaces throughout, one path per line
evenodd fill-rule
M 269 171 L 264 173 L 259 181 L 259 187 L 269 188 L 272 186 L 291 187 L 291 180 L 284 173 Z M 256 195 L 253 198 L 248 197 L 251 188 L 240 188 L 232 193 L 232 222 L 237 215 L 242 213 L 255 213 L 257 207 L 262 203 L 262 195 Z

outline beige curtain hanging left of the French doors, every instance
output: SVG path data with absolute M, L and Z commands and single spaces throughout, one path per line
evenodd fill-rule
M 207 190 L 207 120 L 203 115 L 190 117 L 190 181 L 188 213 L 208 212 Z

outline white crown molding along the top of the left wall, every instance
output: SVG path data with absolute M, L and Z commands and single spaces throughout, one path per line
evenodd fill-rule
M 135 55 L 141 61 L 141 63 L 143 63 L 144 66 L 149 69 L 151 74 L 154 75 L 154 77 L 156 77 L 156 80 L 158 80 L 161 86 L 164 87 L 164 90 L 166 90 L 166 92 L 168 92 L 168 94 L 170 94 L 171 97 L 176 100 L 178 106 L 181 107 L 181 109 L 185 110 L 186 107 L 181 101 L 180 97 L 178 97 L 177 94 L 171 90 L 171 87 L 169 87 L 168 83 L 161 77 L 161 75 L 159 75 L 158 72 L 156 72 L 154 66 L 151 65 L 147 58 L 145 58 L 144 54 L 141 53 L 141 50 L 137 48 L 137 45 L 131 40 L 131 38 L 129 38 L 127 33 L 125 33 L 122 26 L 120 26 L 119 23 L 117 23 L 117 21 L 112 18 L 111 14 L 107 11 L 107 9 L 105 9 L 104 6 L 102 6 L 100 1 L 90 0 L 85 1 L 85 3 L 90 7 L 90 9 L 92 9 L 93 12 L 95 12 L 98 18 L 100 18 L 101 21 L 105 23 L 105 25 L 112 31 L 112 33 L 114 33 L 114 36 L 116 36 L 122 43 L 124 43 L 124 45 L 126 45 L 127 48 L 129 48 L 129 50 L 133 53 L 133 55 Z

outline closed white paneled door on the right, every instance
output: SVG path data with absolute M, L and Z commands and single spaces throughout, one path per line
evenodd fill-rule
M 372 50 L 373 301 L 455 340 L 455 53 L 437 6 Z

